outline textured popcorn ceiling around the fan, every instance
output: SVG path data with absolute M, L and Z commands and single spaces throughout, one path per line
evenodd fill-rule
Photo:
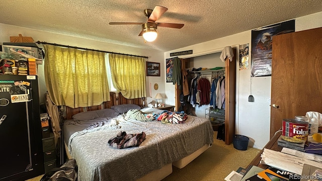
M 162 52 L 322 11 L 321 0 L 5 2 L 2 1 L 0 5 L 0 23 Z M 182 29 L 158 27 L 157 39 L 144 43 L 143 37 L 138 36 L 141 31 L 140 25 L 108 24 L 145 23 L 147 17 L 144 16 L 143 10 L 153 9 L 155 6 L 169 9 L 156 22 L 181 23 L 185 26 Z

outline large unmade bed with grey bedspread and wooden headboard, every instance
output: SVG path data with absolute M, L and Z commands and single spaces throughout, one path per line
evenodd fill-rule
M 111 97 L 112 103 L 102 106 L 105 109 L 67 110 L 64 142 L 68 157 L 77 162 L 78 180 L 161 180 L 172 173 L 172 165 L 183 168 L 213 142 L 212 125 L 205 118 L 188 116 L 182 124 L 128 119 L 129 110 L 150 115 L 163 110 L 141 109 L 136 105 L 140 101 Z M 145 140 L 137 147 L 110 146 L 109 139 L 120 131 L 144 132 Z

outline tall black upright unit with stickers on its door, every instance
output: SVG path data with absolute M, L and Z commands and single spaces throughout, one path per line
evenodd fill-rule
M 44 173 L 38 79 L 0 75 L 0 180 Z

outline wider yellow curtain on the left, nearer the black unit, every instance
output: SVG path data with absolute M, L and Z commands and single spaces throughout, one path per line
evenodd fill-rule
M 71 108 L 110 101 L 105 53 L 44 45 L 45 81 L 56 105 Z

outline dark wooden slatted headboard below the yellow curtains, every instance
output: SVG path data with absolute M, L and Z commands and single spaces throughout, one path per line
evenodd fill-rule
M 136 98 L 136 99 L 126 99 L 122 96 L 121 93 L 110 92 L 111 101 L 103 102 L 99 106 L 91 106 L 91 107 L 82 107 L 82 108 L 70 108 L 66 106 L 66 120 L 72 119 L 72 116 L 86 111 L 95 111 L 100 109 L 111 108 L 114 105 L 122 105 L 122 104 L 135 104 L 138 106 L 142 106 L 144 98 Z

